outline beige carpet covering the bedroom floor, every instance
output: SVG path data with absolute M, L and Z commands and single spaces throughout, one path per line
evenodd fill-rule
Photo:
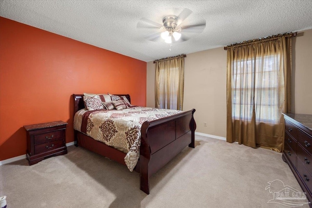
M 33 166 L 26 159 L 0 166 L 0 196 L 8 208 L 286 208 L 268 203 L 268 182 L 302 192 L 281 153 L 195 140 L 195 149 L 185 148 L 151 177 L 149 195 L 139 189 L 139 173 L 70 146 Z

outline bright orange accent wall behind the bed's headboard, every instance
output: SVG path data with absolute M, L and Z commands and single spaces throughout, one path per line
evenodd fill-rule
M 72 94 L 130 94 L 146 105 L 146 62 L 0 17 L 0 161 L 26 154 L 24 125 L 68 122 Z

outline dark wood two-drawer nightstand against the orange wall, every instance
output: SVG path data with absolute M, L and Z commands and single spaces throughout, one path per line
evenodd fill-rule
M 54 121 L 24 126 L 27 132 L 26 158 L 29 165 L 67 153 L 66 125 L 63 121 Z

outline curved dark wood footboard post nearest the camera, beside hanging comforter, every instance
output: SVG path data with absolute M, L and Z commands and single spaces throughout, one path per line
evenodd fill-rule
M 140 189 L 146 194 L 150 194 L 150 185 L 149 185 L 149 162 L 151 159 L 151 149 L 147 142 L 147 129 L 150 125 L 150 122 L 145 121 L 142 124 L 141 128 L 141 145 L 140 145 Z

